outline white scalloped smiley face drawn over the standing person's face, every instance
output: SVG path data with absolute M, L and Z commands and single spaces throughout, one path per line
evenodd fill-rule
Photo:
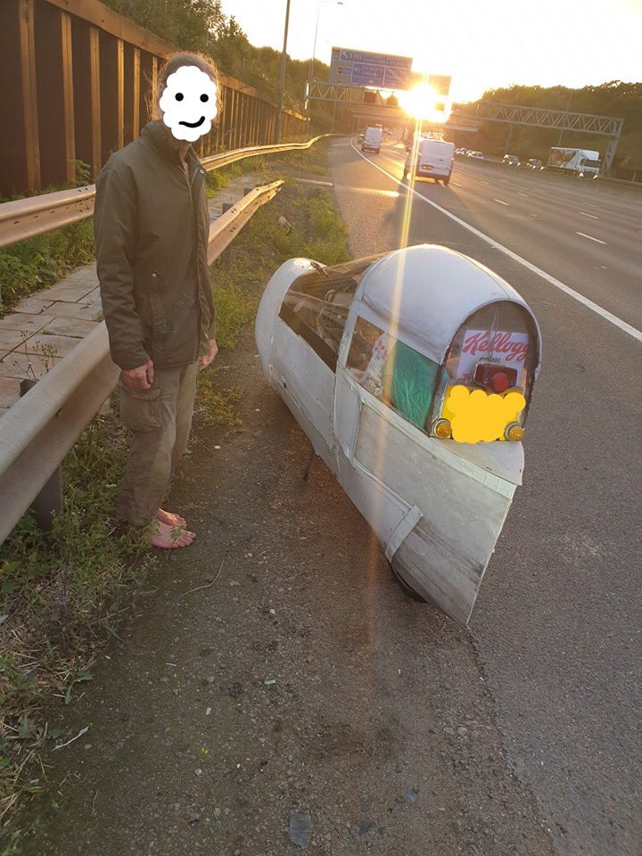
M 172 136 L 193 143 L 209 133 L 218 113 L 217 86 L 195 65 L 182 65 L 169 75 L 159 107 Z

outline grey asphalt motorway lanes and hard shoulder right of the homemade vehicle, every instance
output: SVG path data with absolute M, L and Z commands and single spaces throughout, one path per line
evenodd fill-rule
M 493 242 L 639 331 L 642 201 L 465 161 L 448 187 L 422 181 L 407 193 L 403 157 L 391 145 L 366 157 L 345 141 L 331 149 L 353 254 L 422 242 L 463 251 L 513 284 L 542 329 L 524 484 L 470 629 L 508 757 L 556 852 L 634 856 L 642 852 L 642 346 Z

